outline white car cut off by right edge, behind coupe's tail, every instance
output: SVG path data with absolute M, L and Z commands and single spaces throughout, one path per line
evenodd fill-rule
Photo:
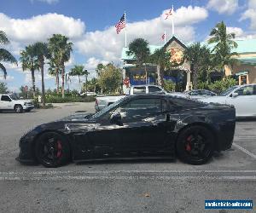
M 256 83 L 236 85 L 218 96 L 200 100 L 233 105 L 237 118 L 256 117 Z

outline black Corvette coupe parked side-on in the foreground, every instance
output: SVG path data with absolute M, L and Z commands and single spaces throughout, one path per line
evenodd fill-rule
M 175 158 L 204 164 L 229 149 L 234 107 L 171 95 L 130 95 L 95 114 L 41 124 L 20 138 L 21 163 L 58 167 L 69 161 Z

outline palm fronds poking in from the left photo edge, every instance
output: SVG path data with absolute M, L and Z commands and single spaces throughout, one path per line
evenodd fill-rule
M 7 38 L 5 32 L 0 31 L 0 44 L 8 44 L 9 39 Z M 17 60 L 11 53 L 6 49 L 0 49 L 0 61 L 6 61 L 10 63 L 15 63 L 18 65 Z M 3 64 L 0 62 L 0 69 L 3 71 L 3 78 L 6 78 L 7 72 L 6 68 L 3 66 Z

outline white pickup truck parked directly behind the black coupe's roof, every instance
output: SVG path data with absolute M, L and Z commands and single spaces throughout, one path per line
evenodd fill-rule
M 144 85 L 136 85 L 131 86 L 125 91 L 125 95 L 138 95 L 138 94 L 162 94 L 162 95 L 177 95 L 187 97 L 187 95 L 183 93 L 173 92 L 168 93 L 164 89 L 160 88 L 157 85 L 144 84 Z M 110 104 L 113 104 L 115 101 L 119 101 L 121 98 L 125 97 L 125 95 L 97 95 L 96 96 L 96 104 L 95 109 L 96 112 L 101 111 L 102 108 L 108 107 Z

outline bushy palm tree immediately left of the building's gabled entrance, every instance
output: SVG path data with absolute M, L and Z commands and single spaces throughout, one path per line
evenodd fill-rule
M 150 62 L 156 64 L 156 72 L 157 72 L 157 83 L 162 86 L 163 85 L 163 74 L 162 70 L 169 68 L 172 66 L 171 64 L 171 53 L 166 52 L 166 49 L 156 49 L 154 54 L 150 55 Z

